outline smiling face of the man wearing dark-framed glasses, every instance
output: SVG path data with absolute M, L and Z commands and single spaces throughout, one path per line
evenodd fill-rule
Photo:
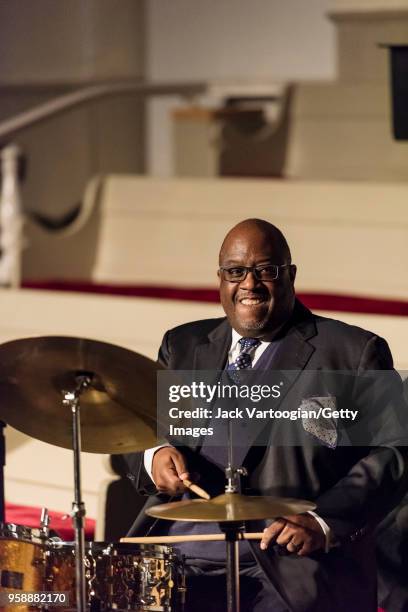
M 220 267 L 284 264 L 273 237 L 256 226 L 233 230 L 220 253 Z M 291 315 L 295 300 L 295 266 L 281 268 L 275 281 L 261 281 L 248 272 L 241 282 L 220 275 L 221 304 L 231 326 L 242 336 L 267 339 Z

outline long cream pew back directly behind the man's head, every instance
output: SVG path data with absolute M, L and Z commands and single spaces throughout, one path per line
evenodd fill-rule
M 111 177 L 93 277 L 215 286 L 226 231 L 258 216 L 287 235 L 300 290 L 406 299 L 407 201 L 404 184 Z

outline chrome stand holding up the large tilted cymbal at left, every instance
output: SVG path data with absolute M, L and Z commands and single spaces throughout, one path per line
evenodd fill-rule
M 86 612 L 85 588 L 85 504 L 81 498 L 81 416 L 80 396 L 92 382 L 93 375 L 78 373 L 74 391 L 63 391 L 63 404 L 72 412 L 72 448 L 74 450 L 74 501 L 72 502 L 72 522 L 75 530 L 75 595 L 77 612 Z

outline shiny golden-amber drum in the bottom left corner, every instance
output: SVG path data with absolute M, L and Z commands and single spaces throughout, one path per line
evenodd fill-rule
M 44 579 L 45 547 L 39 529 L 0 523 L 0 592 L 41 591 Z M 27 605 L 0 610 L 37 609 Z

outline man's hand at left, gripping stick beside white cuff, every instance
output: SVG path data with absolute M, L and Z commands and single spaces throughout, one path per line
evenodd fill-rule
M 186 490 L 182 481 L 189 478 L 183 455 L 172 446 L 164 446 L 155 452 L 152 476 L 157 489 L 167 495 L 180 495 Z

